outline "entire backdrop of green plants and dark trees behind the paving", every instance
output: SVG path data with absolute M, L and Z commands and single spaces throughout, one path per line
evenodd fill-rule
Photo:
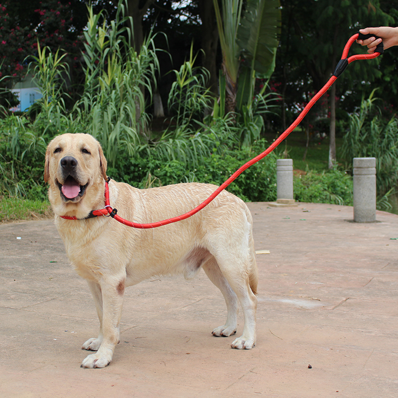
M 93 134 L 108 175 L 138 188 L 222 184 L 296 118 L 351 34 L 396 25 L 398 17 L 398 1 L 357 0 L 344 9 L 329 0 L 215 3 L 0 4 L 2 218 L 14 217 L 7 215 L 14 198 L 31 200 L 30 207 L 46 200 L 44 152 L 63 132 Z M 236 12 L 226 19 L 224 9 Z M 295 199 L 352 204 L 352 157 L 376 156 L 379 202 L 386 205 L 398 178 L 395 54 L 350 65 L 287 142 L 228 190 L 245 200 L 275 200 L 276 159 L 292 157 Z M 43 98 L 11 114 L 8 89 L 27 71 Z M 155 106 L 159 100 L 165 106 Z

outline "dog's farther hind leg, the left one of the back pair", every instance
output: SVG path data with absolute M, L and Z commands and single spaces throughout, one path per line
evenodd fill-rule
M 217 337 L 227 337 L 231 334 L 235 334 L 238 312 L 237 296 L 231 289 L 224 275 L 222 274 L 214 257 L 211 257 L 211 259 L 206 261 L 203 264 L 202 268 L 206 273 L 208 279 L 210 279 L 210 281 L 221 291 L 227 306 L 227 319 L 225 325 L 216 327 L 212 331 L 212 334 Z

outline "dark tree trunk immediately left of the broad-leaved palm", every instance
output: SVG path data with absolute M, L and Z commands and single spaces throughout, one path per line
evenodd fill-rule
M 202 66 L 210 73 L 208 87 L 215 95 L 218 95 L 218 71 L 216 67 L 216 55 L 218 47 L 218 29 L 215 20 L 213 0 L 199 1 L 199 15 L 201 24 L 201 48 L 204 51 Z

